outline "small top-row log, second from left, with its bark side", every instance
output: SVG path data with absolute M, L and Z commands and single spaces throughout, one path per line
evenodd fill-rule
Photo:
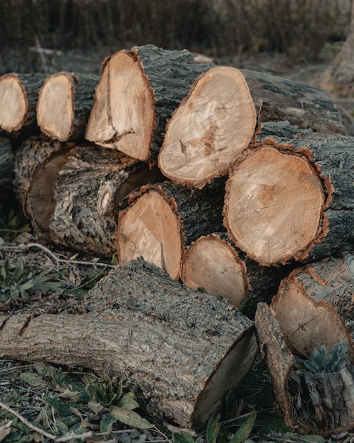
M 40 130 L 61 142 L 83 137 L 99 80 L 98 76 L 69 72 L 49 76 L 38 97 Z

